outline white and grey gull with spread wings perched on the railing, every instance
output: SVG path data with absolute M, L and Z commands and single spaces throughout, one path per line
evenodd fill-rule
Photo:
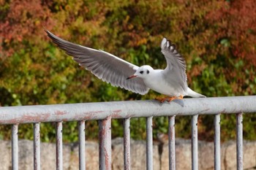
M 148 90 L 164 94 L 165 98 L 156 98 L 160 102 L 182 99 L 184 96 L 203 98 L 187 85 L 186 62 L 170 40 L 163 38 L 161 52 L 165 56 L 165 69 L 153 69 L 151 66 L 136 66 L 103 50 L 84 47 L 45 30 L 53 43 L 72 55 L 73 60 L 84 66 L 100 80 L 113 86 L 145 95 Z

